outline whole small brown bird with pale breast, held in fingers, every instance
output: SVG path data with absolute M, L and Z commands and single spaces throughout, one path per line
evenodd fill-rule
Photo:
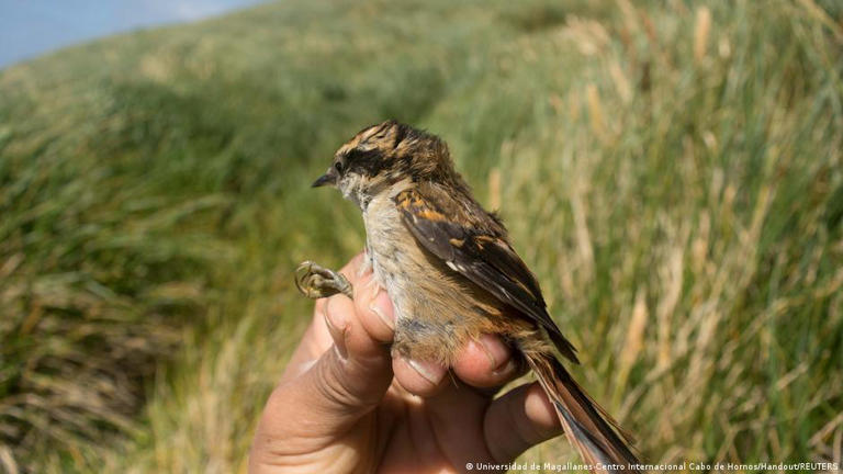
M 617 424 L 571 377 L 558 354 L 575 349 L 547 312 L 539 283 L 506 228 L 471 195 L 438 137 L 394 121 L 358 133 L 313 185 L 334 185 L 363 214 L 366 261 L 392 300 L 393 349 L 450 365 L 482 334 L 498 335 L 532 369 L 565 436 L 598 472 L 638 460 Z M 311 297 L 351 295 L 340 274 L 305 262 Z

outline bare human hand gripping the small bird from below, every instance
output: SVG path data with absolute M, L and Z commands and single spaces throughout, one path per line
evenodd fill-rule
M 494 393 L 520 373 L 512 351 L 483 336 L 445 366 L 393 359 L 389 296 L 362 256 L 340 272 L 355 289 L 316 302 L 313 321 L 269 397 L 249 472 L 450 473 L 504 464 L 561 432 L 537 383 Z

